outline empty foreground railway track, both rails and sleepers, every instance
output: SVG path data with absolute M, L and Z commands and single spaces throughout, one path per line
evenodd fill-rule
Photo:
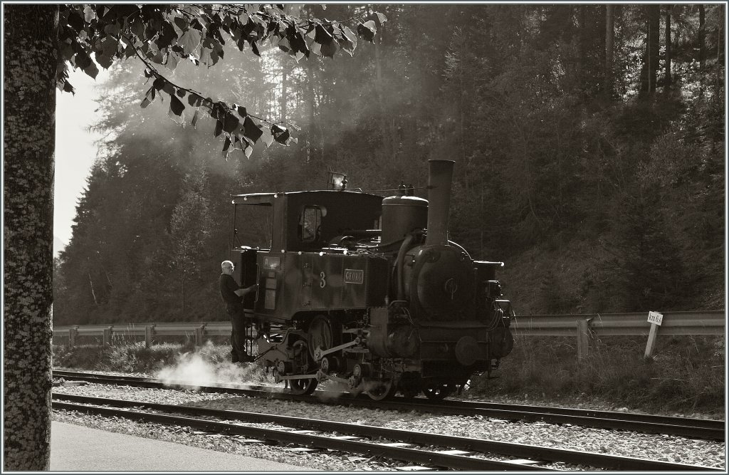
M 157 422 L 165 425 L 180 425 L 213 433 L 224 433 L 229 436 L 243 436 L 252 438 L 254 441 L 275 441 L 300 447 L 385 457 L 391 460 L 417 463 L 429 468 L 472 471 L 551 471 L 568 468 L 564 465 L 555 468 L 555 463 L 563 463 L 571 466 L 615 470 L 722 471 L 718 468 L 579 450 L 195 406 L 144 403 L 70 394 L 53 395 L 52 405 L 56 410 L 99 414 L 107 417 L 125 417 L 130 420 Z M 133 410 L 128 408 L 133 408 Z M 206 417 L 206 419 L 200 417 Z M 252 427 L 241 425 L 241 423 L 222 422 L 222 420 L 235 420 L 243 424 L 275 424 L 278 428 Z M 499 457 L 503 460 L 499 460 Z M 550 464 L 553 466 L 549 466 Z

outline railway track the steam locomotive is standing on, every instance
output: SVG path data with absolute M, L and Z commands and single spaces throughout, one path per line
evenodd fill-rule
M 405 398 L 394 398 L 391 401 L 372 401 L 369 398 L 354 398 L 346 393 L 332 394 L 331 392 L 320 391 L 316 391 L 313 395 L 305 396 L 272 391 L 270 387 L 252 385 L 240 387 L 199 386 L 191 385 L 189 382 L 176 382 L 174 385 L 169 385 L 155 379 L 136 376 L 109 376 L 75 371 L 53 371 L 53 375 L 55 377 L 80 379 L 101 384 L 135 385 L 140 387 L 180 387 L 184 389 L 198 389 L 206 392 L 222 392 L 287 401 L 343 404 L 346 406 L 408 412 L 416 410 L 418 412 L 430 412 L 433 414 L 483 416 L 502 420 L 572 424 L 590 428 L 632 430 L 639 433 L 662 433 L 690 439 L 725 440 L 725 422 L 723 420 L 453 400 L 440 401 L 440 403 L 432 403 L 426 399 Z

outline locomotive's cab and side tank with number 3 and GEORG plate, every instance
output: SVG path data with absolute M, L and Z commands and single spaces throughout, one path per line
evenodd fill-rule
M 284 323 L 332 306 L 382 304 L 386 288 L 364 278 L 375 275 L 370 268 L 377 263 L 330 244 L 338 236 L 359 235 L 376 245 L 382 199 L 346 190 L 233 196 L 237 277 L 243 286 L 259 285 L 256 295 L 243 302 L 246 308 L 254 317 Z M 255 214 L 251 207 L 265 211 Z M 268 242 L 241 240 L 247 227 L 268 231 Z

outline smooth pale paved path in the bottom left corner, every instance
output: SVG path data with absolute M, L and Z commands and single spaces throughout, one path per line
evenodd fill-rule
M 305 471 L 311 468 L 51 423 L 51 471 Z

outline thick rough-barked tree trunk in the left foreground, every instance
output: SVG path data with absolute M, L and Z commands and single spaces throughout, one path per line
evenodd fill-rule
M 8 4 L 4 72 L 4 470 L 50 468 L 58 4 Z

